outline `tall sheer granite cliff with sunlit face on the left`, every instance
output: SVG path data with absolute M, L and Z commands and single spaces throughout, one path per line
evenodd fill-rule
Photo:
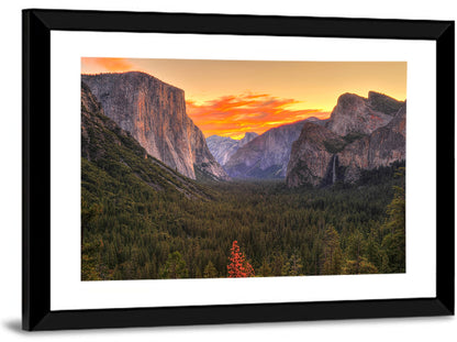
M 194 167 L 218 179 L 228 178 L 187 115 L 183 90 L 137 71 L 81 75 L 81 79 L 105 115 L 130 132 L 148 154 L 192 179 Z

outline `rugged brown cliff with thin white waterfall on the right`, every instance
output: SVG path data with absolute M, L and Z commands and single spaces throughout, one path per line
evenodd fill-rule
M 405 102 L 374 91 L 341 96 L 325 128 L 306 124 L 293 143 L 288 186 L 353 183 L 364 169 L 404 161 L 405 124 Z

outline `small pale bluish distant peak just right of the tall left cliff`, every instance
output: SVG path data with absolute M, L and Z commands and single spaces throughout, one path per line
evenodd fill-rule
M 254 132 L 245 133 L 244 137 L 241 140 L 234 140 L 228 136 L 211 135 L 207 137 L 207 144 L 218 163 L 224 166 L 228 158 L 235 154 L 239 147 L 246 145 L 257 136 L 258 134 Z

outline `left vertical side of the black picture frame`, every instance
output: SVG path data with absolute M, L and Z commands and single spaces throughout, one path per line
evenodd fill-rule
M 51 312 L 51 30 L 34 10 L 22 30 L 22 329 L 35 330 Z

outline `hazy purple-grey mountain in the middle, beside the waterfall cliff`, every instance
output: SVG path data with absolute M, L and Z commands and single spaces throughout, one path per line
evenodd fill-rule
M 225 164 L 225 170 L 234 178 L 283 178 L 292 143 L 306 121 L 322 123 L 310 118 L 268 130 L 239 147 Z

